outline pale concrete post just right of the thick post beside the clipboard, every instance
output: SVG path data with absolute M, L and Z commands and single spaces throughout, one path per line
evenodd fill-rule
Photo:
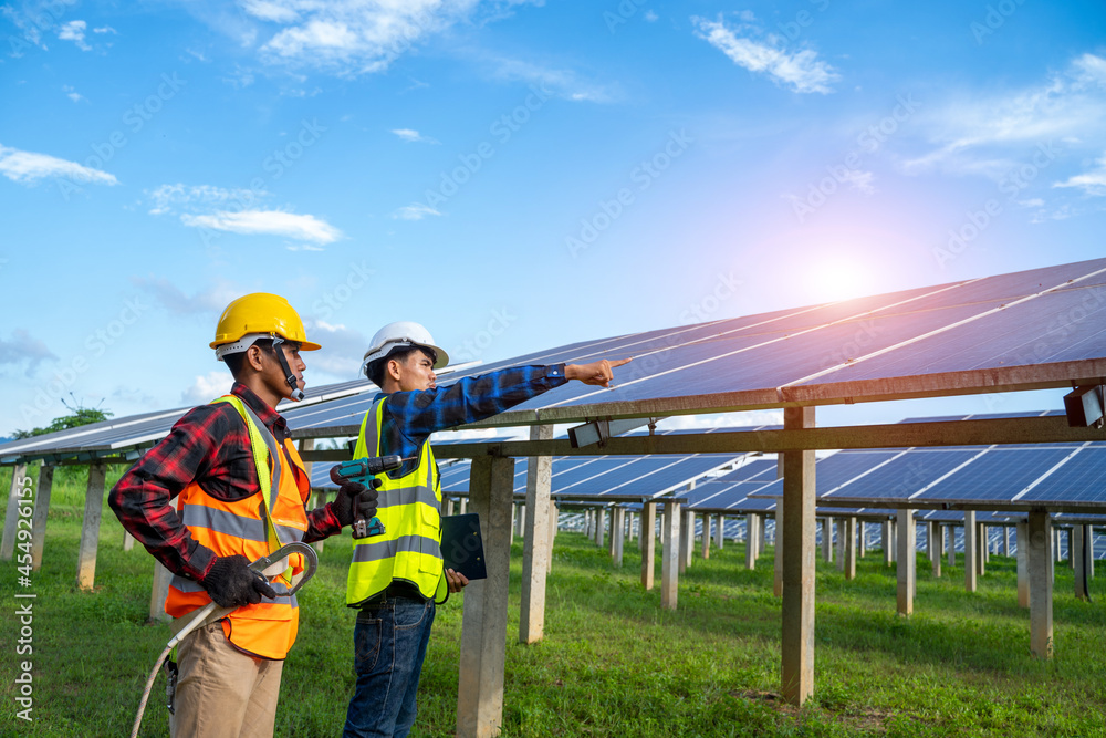
M 530 440 L 553 438 L 552 425 L 530 428 Z M 550 500 L 553 459 L 531 456 L 526 459 L 526 503 L 522 517 L 522 600 L 519 610 L 519 643 L 535 643 L 545 632 L 545 576 L 552 560 L 553 524 Z M 532 513 L 528 517 L 525 510 Z

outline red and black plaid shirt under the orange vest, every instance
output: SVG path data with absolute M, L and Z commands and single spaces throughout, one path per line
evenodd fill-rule
M 284 418 L 243 384 L 236 382 L 230 392 L 257 413 L 283 448 L 289 435 Z M 295 474 L 299 478 L 299 469 Z M 229 403 L 189 410 L 168 436 L 123 475 L 107 501 L 127 532 L 166 569 L 200 580 L 211 569 L 215 553 L 192 539 L 169 505 L 194 481 L 220 500 L 239 500 L 261 491 L 249 432 Z M 342 523 L 326 505 L 307 512 L 303 540 L 317 541 L 341 529 Z

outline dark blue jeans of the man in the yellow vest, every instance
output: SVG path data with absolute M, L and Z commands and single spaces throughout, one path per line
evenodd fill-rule
M 385 596 L 357 615 L 357 685 L 344 738 L 404 738 L 415 724 L 415 694 L 434 624 L 434 600 Z

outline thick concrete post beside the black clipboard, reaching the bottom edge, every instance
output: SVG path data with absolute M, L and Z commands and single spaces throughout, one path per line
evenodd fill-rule
M 465 589 L 456 734 L 462 738 L 495 736 L 503 723 L 513 491 L 514 459 L 472 459 L 469 498 L 480 516 L 488 579 Z

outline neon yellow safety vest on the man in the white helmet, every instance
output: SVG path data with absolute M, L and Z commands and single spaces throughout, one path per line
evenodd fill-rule
M 353 454 L 355 459 L 380 455 L 386 399 L 377 399 L 365 414 Z M 427 599 L 445 595 L 440 550 L 441 488 L 436 471 L 434 451 L 425 440 L 414 471 L 399 479 L 392 479 L 387 474 L 377 475 L 382 482 L 377 517 L 385 532 L 354 540 L 346 604 L 356 606 L 383 592 L 393 581 L 416 585 Z

